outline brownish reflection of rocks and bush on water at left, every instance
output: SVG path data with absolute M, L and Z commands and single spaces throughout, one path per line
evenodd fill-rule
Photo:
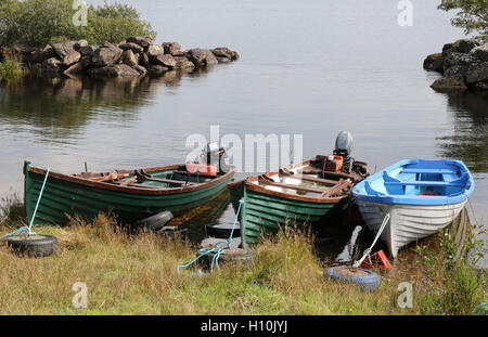
M 24 79 L 0 87 L 0 131 L 27 131 L 41 141 L 70 143 L 82 137 L 92 119 L 130 128 L 143 107 L 154 103 L 160 86 L 179 87 L 207 74 L 166 72 L 160 76 L 128 79 Z

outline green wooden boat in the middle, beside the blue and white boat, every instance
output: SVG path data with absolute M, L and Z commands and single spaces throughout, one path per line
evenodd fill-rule
M 244 198 L 241 217 L 245 248 L 265 233 L 277 233 L 283 225 L 311 225 L 319 229 L 328 219 L 347 209 L 350 190 L 368 176 L 368 165 L 354 161 L 349 169 L 326 171 L 323 158 L 262 176 L 249 177 L 230 185 L 233 199 Z

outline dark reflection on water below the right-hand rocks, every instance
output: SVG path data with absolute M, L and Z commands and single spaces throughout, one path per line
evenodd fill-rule
M 488 94 L 449 93 L 453 134 L 437 138 L 442 157 L 463 160 L 473 172 L 488 171 Z

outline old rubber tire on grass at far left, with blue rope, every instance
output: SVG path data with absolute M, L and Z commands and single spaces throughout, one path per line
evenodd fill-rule
M 57 238 L 51 235 L 11 236 L 7 245 L 17 255 L 35 258 L 51 256 L 60 249 Z

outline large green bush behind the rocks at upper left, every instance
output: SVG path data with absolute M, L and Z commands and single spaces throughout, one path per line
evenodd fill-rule
M 128 4 L 90 5 L 85 27 L 73 23 L 78 11 L 73 9 L 73 0 L 0 0 L 0 44 L 53 43 L 65 39 L 102 44 L 120 42 L 129 36 L 156 36 L 151 24 Z

